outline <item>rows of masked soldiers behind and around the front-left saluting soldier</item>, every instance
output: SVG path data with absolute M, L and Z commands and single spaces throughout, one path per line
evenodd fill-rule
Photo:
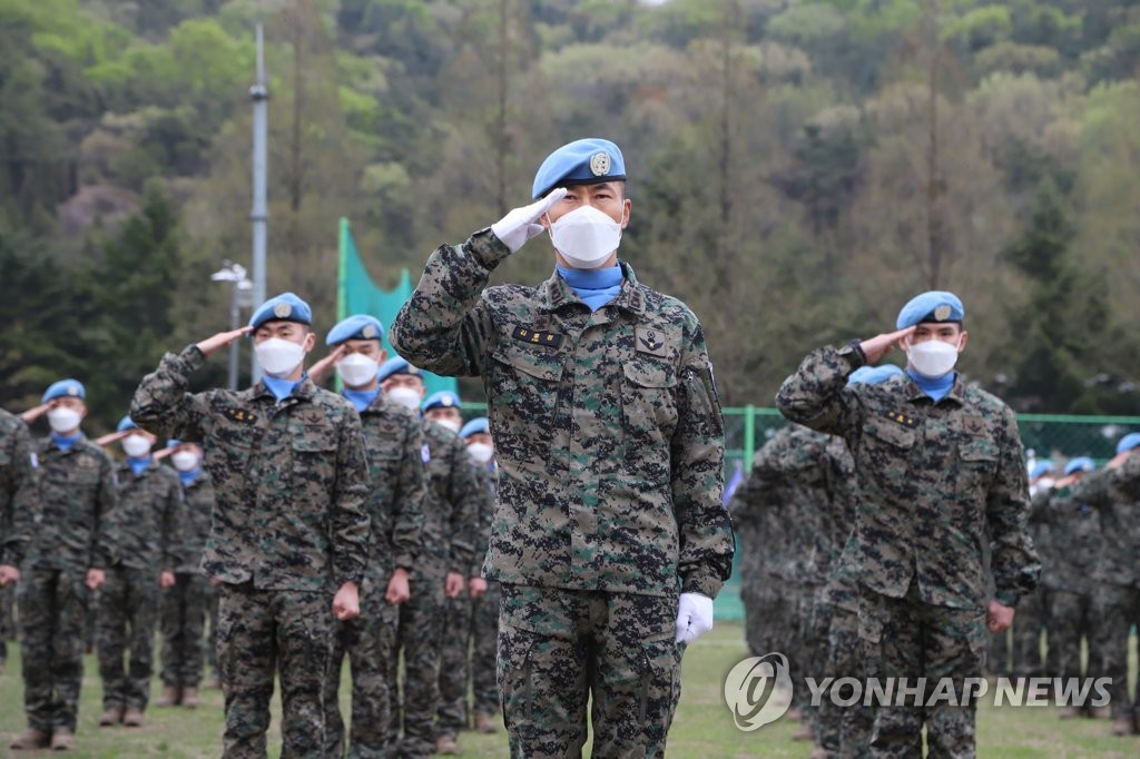
M 312 379 L 339 364 L 350 337 L 381 352 L 378 321 L 349 327 L 331 333 L 333 353 Z M 480 577 L 494 448 L 486 418 L 464 424 L 455 393 L 425 398 L 418 369 L 400 358 L 377 364 L 353 383 L 374 386 L 359 410 L 373 487 L 367 603 L 328 645 L 320 756 L 454 754 L 461 731 L 499 729 L 498 589 Z M 205 685 L 221 687 L 217 581 L 202 568 L 214 509 L 207 451 L 177 439 L 158 449 L 130 416 L 89 440 L 85 414 L 75 379 L 52 384 L 23 418 L 0 411 L 0 640 L 18 629 L 28 723 L 14 750 L 75 748 L 85 642 L 98 655 L 100 726 L 140 726 L 148 705 L 198 707 L 207 661 Z M 33 440 L 27 424 L 41 416 L 51 432 Z M 104 449 L 114 443 L 121 456 Z M 156 628 L 163 689 L 152 701 Z M 337 701 L 345 658 L 349 720 Z

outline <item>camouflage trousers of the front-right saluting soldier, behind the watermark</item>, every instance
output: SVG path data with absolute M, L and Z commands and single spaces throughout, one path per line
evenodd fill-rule
M 968 677 L 980 677 L 988 634 L 984 609 L 950 609 L 922 603 L 918 582 L 903 598 L 860 589 L 860 638 L 870 677 L 907 678 L 913 686 L 925 677 L 926 699 L 940 678 L 950 678 L 955 694 L 966 692 Z M 922 699 L 925 701 L 925 699 Z M 909 759 L 922 756 L 922 727 L 931 759 L 976 756 L 976 704 L 951 705 L 938 700 L 921 707 L 874 705 L 871 756 Z

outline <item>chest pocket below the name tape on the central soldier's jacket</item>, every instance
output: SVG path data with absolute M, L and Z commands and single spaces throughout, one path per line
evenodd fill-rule
M 495 447 L 506 458 L 545 466 L 557 416 L 562 357 L 502 345 L 494 358 L 488 403 L 502 421 L 496 425 Z

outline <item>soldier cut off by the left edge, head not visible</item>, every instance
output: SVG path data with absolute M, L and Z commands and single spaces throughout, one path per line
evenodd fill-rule
M 35 466 L 32 438 L 15 414 L 0 409 L 0 675 L 13 632 L 11 590 L 31 539 L 28 520 L 35 507 Z

